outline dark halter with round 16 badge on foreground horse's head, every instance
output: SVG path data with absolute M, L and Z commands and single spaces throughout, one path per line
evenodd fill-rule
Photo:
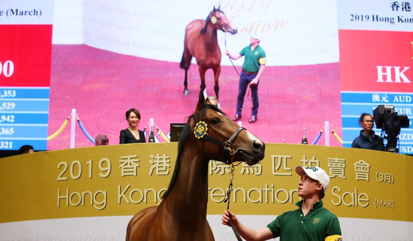
M 228 165 L 233 165 L 233 159 L 234 159 L 234 156 L 235 156 L 235 153 L 237 153 L 237 151 L 238 150 L 234 150 L 234 149 L 231 149 L 231 144 L 232 144 L 232 142 L 234 141 L 234 139 L 235 139 L 235 137 L 242 131 L 242 130 L 244 130 L 245 128 L 244 127 L 240 127 L 240 128 L 238 128 L 233 134 L 232 134 L 232 136 L 228 139 L 228 141 L 225 141 L 225 142 L 223 142 L 223 141 L 221 141 L 221 140 L 218 140 L 217 138 L 215 138 L 215 137 L 213 137 L 213 136 L 210 136 L 210 135 L 208 135 L 208 133 L 207 133 L 207 130 L 208 130 L 208 124 L 206 124 L 205 122 L 203 122 L 203 121 L 200 121 L 200 122 L 198 122 L 198 119 L 197 119 L 197 117 L 195 116 L 195 114 L 193 115 L 193 118 L 194 118 L 194 122 L 195 122 L 195 131 L 194 131 L 194 134 L 195 134 L 195 136 L 198 138 L 198 139 L 203 139 L 203 143 L 202 143 L 202 154 L 204 154 L 205 152 L 204 152 L 204 149 L 205 149 L 205 141 L 211 141 L 211 142 L 213 142 L 213 143 L 216 143 L 216 144 L 218 144 L 219 146 L 222 146 L 223 147 L 223 149 L 224 150 L 228 150 L 228 152 L 230 153 L 230 155 L 232 155 L 232 157 L 231 157 L 231 161 L 225 161 L 225 160 L 223 160 L 224 158 L 222 158 L 222 160 L 219 160 L 219 159 L 215 159 L 215 158 L 209 158 L 210 160 L 217 160 L 217 161 L 220 161 L 220 162 L 223 162 L 223 163 L 225 163 L 225 164 L 228 164 Z M 246 130 L 246 129 L 245 129 Z M 201 133 L 202 132 L 202 133 Z M 241 162 L 240 162 L 241 163 Z M 237 165 L 239 165 L 240 163 L 238 163 Z

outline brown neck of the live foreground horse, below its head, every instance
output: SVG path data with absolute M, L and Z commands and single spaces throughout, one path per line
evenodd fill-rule
M 205 219 L 208 200 L 208 160 L 197 153 L 194 140 L 185 143 L 180 155 L 179 174 L 168 201 L 180 218 Z

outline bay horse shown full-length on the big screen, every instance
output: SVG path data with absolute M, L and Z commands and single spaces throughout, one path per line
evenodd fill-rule
M 237 33 L 224 12 L 218 9 L 209 12 L 206 20 L 196 19 L 188 24 L 185 29 L 184 50 L 180 62 L 180 68 L 185 69 L 184 95 L 188 95 L 188 69 L 192 56 L 197 60 L 199 76 L 201 77 L 201 89 L 205 89 L 205 72 L 207 69 L 214 71 L 215 95 L 218 98 L 218 77 L 221 73 L 221 49 L 218 45 L 217 30 Z

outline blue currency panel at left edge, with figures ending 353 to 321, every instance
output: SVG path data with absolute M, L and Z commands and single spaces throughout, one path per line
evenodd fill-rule
M 49 87 L 0 87 L 0 150 L 47 149 Z

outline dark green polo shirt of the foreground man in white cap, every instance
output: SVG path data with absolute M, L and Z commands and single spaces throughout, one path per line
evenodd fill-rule
M 305 217 L 301 211 L 302 203 L 301 200 L 295 204 L 299 209 L 284 212 L 268 224 L 274 238 L 280 237 L 280 241 L 342 240 L 337 216 L 323 207 L 323 201 L 315 203 Z

